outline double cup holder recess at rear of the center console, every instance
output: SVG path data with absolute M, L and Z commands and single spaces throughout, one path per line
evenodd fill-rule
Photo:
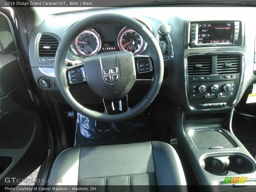
M 239 154 L 205 156 L 200 164 L 205 171 L 213 175 L 251 173 L 255 169 L 249 158 Z

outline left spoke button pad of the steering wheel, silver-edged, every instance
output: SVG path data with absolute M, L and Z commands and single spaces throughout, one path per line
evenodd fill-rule
M 69 87 L 86 85 L 84 63 L 69 67 L 66 71 L 66 78 Z

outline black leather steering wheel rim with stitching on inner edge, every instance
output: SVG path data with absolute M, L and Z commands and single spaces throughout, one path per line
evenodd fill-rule
M 80 104 L 69 91 L 69 86 L 66 78 L 66 71 L 68 67 L 64 64 L 69 46 L 75 39 L 77 34 L 79 34 L 86 28 L 92 27 L 93 25 L 106 23 L 127 26 L 129 28 L 132 28 L 137 33 L 139 33 L 143 37 L 145 42 L 148 44 L 148 47 L 151 50 L 150 57 L 154 61 L 155 68 L 153 82 L 146 96 L 134 107 L 128 108 L 126 112 L 116 115 L 108 115 L 107 113 L 94 111 Z M 139 21 L 120 14 L 99 13 L 90 15 L 76 22 L 71 28 L 68 29 L 68 31 L 63 36 L 58 46 L 55 56 L 54 70 L 59 90 L 64 99 L 72 108 L 74 108 L 77 112 L 81 113 L 82 115 L 98 121 L 117 122 L 124 121 L 126 119 L 132 118 L 133 116 L 140 114 L 152 103 L 152 101 L 158 94 L 163 81 L 164 61 L 162 52 L 156 41 L 156 38 L 148 30 L 148 28 L 142 25 Z

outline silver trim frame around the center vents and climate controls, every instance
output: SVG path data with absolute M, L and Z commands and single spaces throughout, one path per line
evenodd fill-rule
M 209 109 L 198 109 L 198 108 L 194 108 L 190 105 L 189 101 L 188 101 L 188 74 L 187 74 L 187 66 L 188 66 L 188 56 L 191 56 L 191 55 L 213 55 L 213 54 L 230 54 L 230 53 L 236 53 L 236 54 L 240 54 L 242 56 L 242 72 L 241 72 L 241 78 L 240 78 L 240 84 L 238 85 L 239 88 L 238 88 L 238 91 L 237 91 L 237 94 L 236 94 L 236 98 L 234 100 L 234 102 L 229 105 L 229 106 L 225 106 L 225 107 L 221 107 L 221 108 L 209 108 Z M 185 92 L 186 92 L 186 100 L 187 100 L 187 104 L 188 104 L 188 107 L 191 109 L 191 110 L 198 110 L 198 111 L 208 111 L 208 110 L 222 110 L 222 109 L 229 109 L 229 108 L 232 108 L 239 96 L 240 96 L 240 93 L 241 93 L 241 89 L 242 89 L 242 85 L 243 85 L 243 81 L 244 81 L 244 53 L 243 52 L 238 52 L 238 51 L 225 51 L 225 52 L 220 52 L 220 51 L 215 51 L 215 52 L 202 52 L 202 53 L 189 53 L 185 56 L 184 58 L 184 76 L 185 76 Z

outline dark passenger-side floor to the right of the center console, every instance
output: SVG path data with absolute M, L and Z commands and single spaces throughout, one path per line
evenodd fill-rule
M 232 130 L 250 154 L 256 157 L 256 118 L 234 113 Z

